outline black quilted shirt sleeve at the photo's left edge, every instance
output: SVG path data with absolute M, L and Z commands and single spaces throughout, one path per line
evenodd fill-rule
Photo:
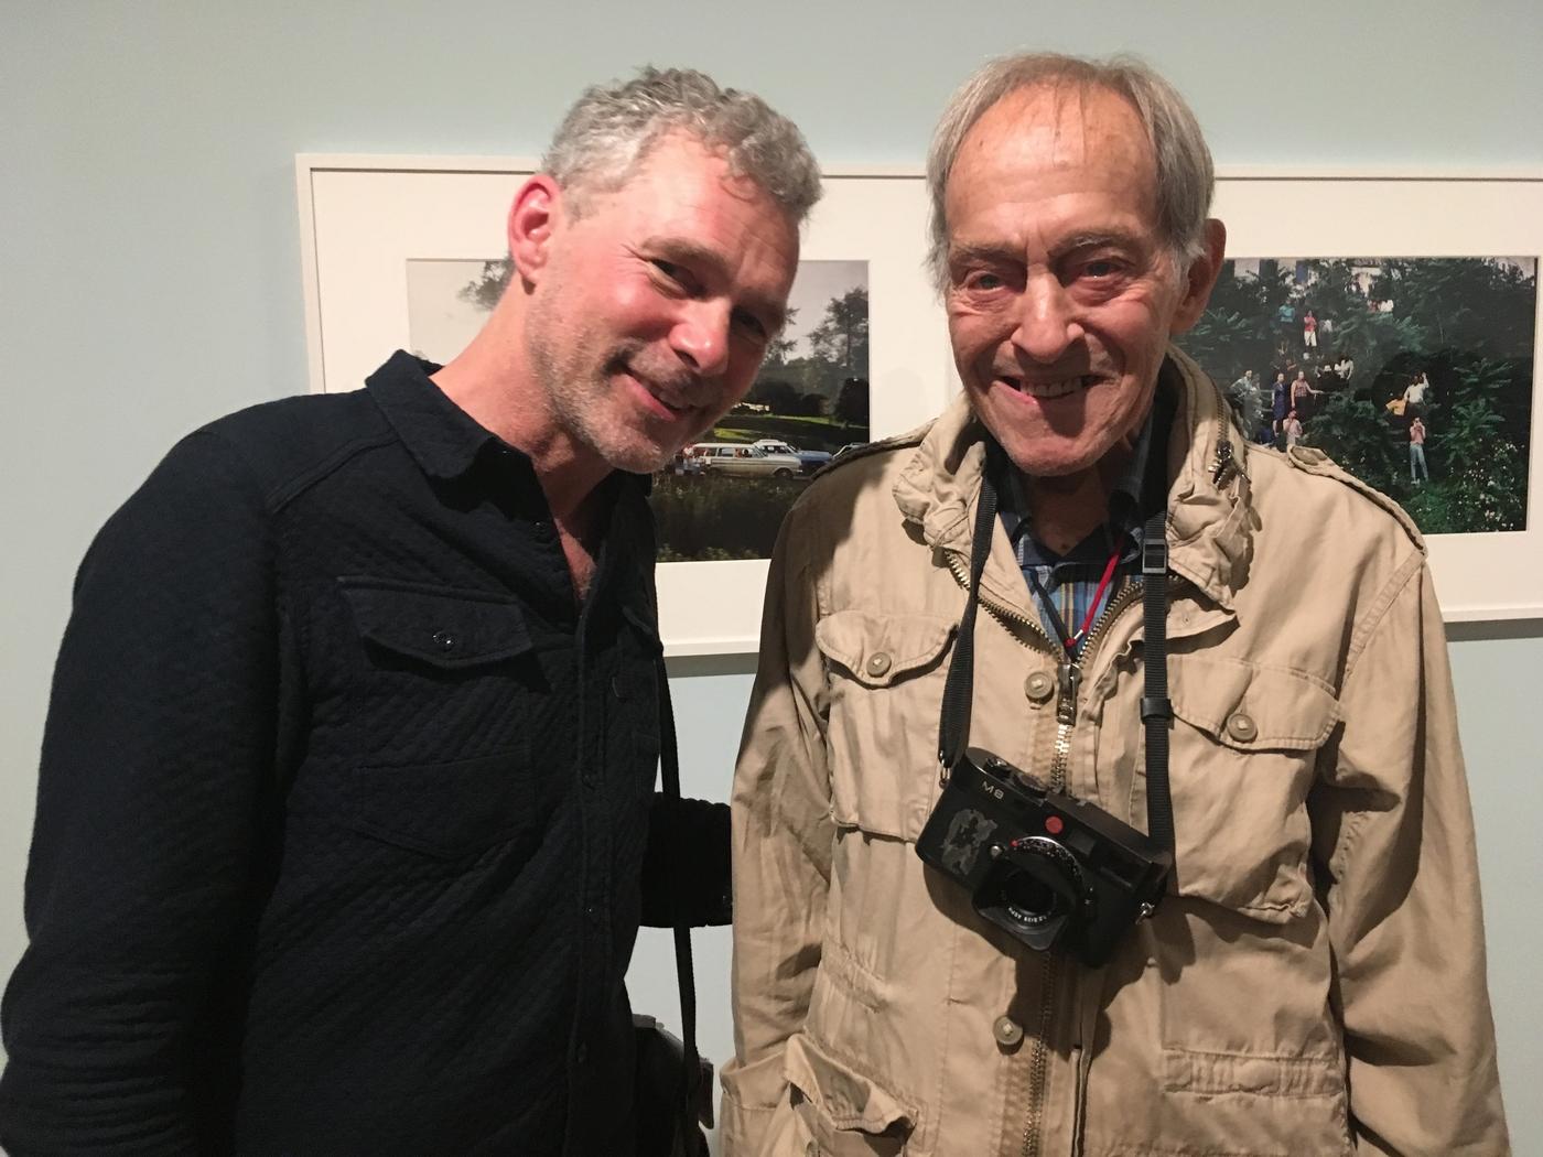
M 228 1129 L 238 989 L 219 978 L 250 932 L 273 776 L 270 554 L 258 487 L 198 433 L 80 566 L 43 736 L 31 943 L 5 995 L 12 1157 L 191 1154 Z

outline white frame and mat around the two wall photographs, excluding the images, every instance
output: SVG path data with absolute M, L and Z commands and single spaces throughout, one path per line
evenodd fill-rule
M 532 171 L 508 157 L 298 156 L 310 387 L 356 389 L 407 347 L 407 261 L 503 256 L 509 201 Z M 805 259 L 869 262 L 872 438 L 927 421 L 958 390 L 924 270 L 926 201 L 918 168 L 838 170 L 805 231 Z M 1543 176 L 1531 173 L 1224 168 L 1214 214 L 1239 258 L 1543 256 Z M 1532 387 L 1526 529 L 1427 538 L 1447 622 L 1543 617 L 1537 356 Z M 662 565 L 667 654 L 755 651 L 765 571 L 764 560 Z

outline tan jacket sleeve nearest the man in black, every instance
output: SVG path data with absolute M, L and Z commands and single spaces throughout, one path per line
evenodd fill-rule
M 772 555 L 761 665 L 734 770 L 734 1058 L 724 1066 L 727 1157 L 772 1152 L 782 1052 L 819 966 L 835 827 L 816 594 L 795 506 Z

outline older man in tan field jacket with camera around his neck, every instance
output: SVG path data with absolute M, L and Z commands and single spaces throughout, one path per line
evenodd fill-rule
M 964 396 L 773 560 L 728 1152 L 1503 1152 L 1421 540 L 1168 344 L 1224 251 L 1193 114 L 1003 60 L 929 179 Z

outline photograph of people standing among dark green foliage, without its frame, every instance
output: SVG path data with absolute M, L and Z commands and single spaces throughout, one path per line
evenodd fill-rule
M 1424 534 L 1520 531 L 1535 319 L 1535 258 L 1256 258 L 1179 344 L 1261 446 L 1322 450 Z

